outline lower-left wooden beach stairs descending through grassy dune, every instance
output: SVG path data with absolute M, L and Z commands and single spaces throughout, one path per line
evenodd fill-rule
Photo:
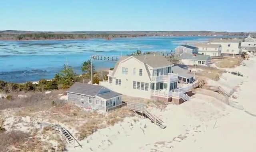
M 76 138 L 74 138 L 74 136 L 72 136 L 72 134 L 67 129 L 65 129 L 64 127 L 62 127 L 60 125 L 52 125 L 52 129 L 54 129 L 55 131 L 60 133 L 61 136 L 64 137 L 65 140 L 69 144 L 73 145 L 74 147 L 77 147 L 77 146 L 75 146 L 75 144 L 77 143 L 78 146 L 80 146 L 82 148 L 82 145 L 79 144 L 79 142 L 76 140 Z

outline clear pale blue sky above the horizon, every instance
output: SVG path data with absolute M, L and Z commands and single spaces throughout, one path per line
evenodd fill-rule
M 256 31 L 256 0 L 0 0 L 0 30 Z

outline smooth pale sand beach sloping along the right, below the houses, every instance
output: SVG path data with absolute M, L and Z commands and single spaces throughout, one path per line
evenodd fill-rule
M 237 97 L 229 99 L 234 107 L 220 101 L 216 94 L 210 96 L 198 91 L 190 101 L 181 105 L 170 104 L 162 111 L 150 109 L 164 121 L 166 129 L 160 129 L 149 119 L 139 118 L 140 121 L 134 122 L 133 118 L 126 118 L 122 123 L 101 129 L 82 140 L 83 148 L 68 147 L 68 151 L 255 152 L 256 129 L 252 126 L 256 126 L 253 116 L 256 114 L 253 100 L 256 57 L 251 56 L 243 62 L 246 66 L 230 70 L 238 70 L 244 77 L 226 73 L 226 80 L 208 82 L 232 92 Z

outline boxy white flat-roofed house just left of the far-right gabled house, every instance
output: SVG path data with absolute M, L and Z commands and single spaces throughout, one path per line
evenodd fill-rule
M 242 54 L 240 39 L 211 39 L 209 40 L 209 43 L 221 45 L 222 56 L 235 56 Z

